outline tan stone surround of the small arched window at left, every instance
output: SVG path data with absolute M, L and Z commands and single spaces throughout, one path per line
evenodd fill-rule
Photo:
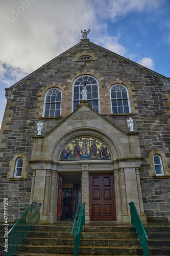
M 16 166 L 16 162 L 18 160 L 18 158 L 22 158 L 23 160 L 23 164 L 22 164 L 22 172 L 21 172 L 21 177 L 20 178 L 14 178 L 14 174 L 15 174 L 15 166 Z M 27 157 L 24 154 L 16 154 L 12 160 L 9 163 L 10 168 L 10 172 L 8 173 L 7 178 L 9 179 L 9 181 L 21 181 L 24 178 L 27 177 L 27 172 L 26 172 L 26 166 L 28 166 L 28 161 L 27 161 Z

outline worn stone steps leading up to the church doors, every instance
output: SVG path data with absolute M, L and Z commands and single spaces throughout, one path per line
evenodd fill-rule
M 33 226 L 15 255 L 72 256 L 74 238 L 70 234 L 71 227 L 72 222 Z M 170 255 L 170 226 L 152 225 L 145 227 L 145 230 L 149 237 L 150 255 Z M 91 222 L 83 227 L 80 240 L 79 255 L 85 254 L 143 255 L 143 252 L 134 227 Z

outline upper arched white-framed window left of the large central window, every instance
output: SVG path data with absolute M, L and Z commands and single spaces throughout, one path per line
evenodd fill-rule
M 45 94 L 43 117 L 60 116 L 61 91 L 57 88 L 50 89 Z

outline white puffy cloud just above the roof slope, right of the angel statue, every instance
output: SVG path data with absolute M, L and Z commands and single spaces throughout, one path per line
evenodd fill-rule
M 126 52 L 125 47 L 118 43 L 118 38 L 116 37 L 111 37 L 111 36 L 100 37 L 98 41 L 95 42 L 95 44 L 103 46 L 104 48 L 122 56 L 125 55 L 125 52 Z

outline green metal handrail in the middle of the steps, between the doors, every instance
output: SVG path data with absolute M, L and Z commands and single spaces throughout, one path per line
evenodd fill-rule
M 79 245 L 81 239 L 82 226 L 85 225 L 85 205 L 86 203 L 79 203 L 76 211 L 74 223 L 72 225 L 71 234 L 74 236 L 74 256 L 79 254 Z

